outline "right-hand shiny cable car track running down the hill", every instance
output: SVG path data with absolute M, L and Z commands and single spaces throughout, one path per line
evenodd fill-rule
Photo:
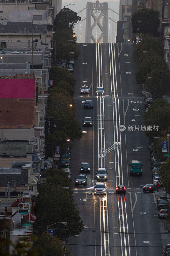
M 114 47 L 114 51 L 113 51 Z M 111 80 L 111 92 L 112 92 L 112 108 L 113 108 L 113 126 L 114 126 L 114 140 L 115 143 L 119 143 L 120 146 L 114 148 L 115 152 L 115 177 L 117 184 L 123 184 L 123 172 L 122 172 L 122 147 L 121 147 L 121 132 L 120 132 L 120 110 L 119 99 L 117 92 L 117 77 L 116 77 L 116 64 L 115 64 L 115 45 L 109 43 L 109 58 L 110 58 L 110 80 Z M 114 71 L 115 70 L 115 71 Z M 120 239 L 122 256 L 130 256 L 130 243 L 129 243 L 129 231 L 126 211 L 126 199 L 125 196 L 118 196 L 118 211 L 119 211 L 119 225 L 120 225 Z

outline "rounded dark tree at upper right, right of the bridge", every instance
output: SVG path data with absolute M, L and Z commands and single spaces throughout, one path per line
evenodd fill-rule
M 150 24 L 151 23 L 151 34 L 153 36 L 159 36 L 158 27 L 159 27 L 159 11 L 154 9 L 142 8 L 135 12 L 132 15 L 132 29 L 133 33 L 139 32 L 149 33 L 150 32 Z M 138 20 L 142 20 L 142 22 L 138 22 Z

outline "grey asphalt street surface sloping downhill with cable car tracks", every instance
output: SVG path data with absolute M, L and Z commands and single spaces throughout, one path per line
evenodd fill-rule
M 163 255 L 163 244 L 156 208 L 156 193 L 143 193 L 151 180 L 150 153 L 144 134 L 144 99 L 136 84 L 136 66 L 132 62 L 132 43 L 78 44 L 80 56 L 75 62 L 77 80 L 74 99 L 83 137 L 74 141 L 71 151 L 71 178 L 75 202 L 84 223 L 83 231 L 69 238 L 74 256 Z M 80 94 L 82 85 L 89 94 Z M 96 96 L 96 87 L 105 95 Z M 93 109 L 84 109 L 82 101 L 93 100 Z M 83 127 L 85 116 L 92 127 Z M 120 126 L 126 130 L 120 131 Z M 141 160 L 142 176 L 130 176 L 130 161 Z M 75 187 L 81 162 L 91 166 L 87 186 Z M 94 196 L 98 167 L 107 168 L 107 194 Z M 116 195 L 115 186 L 124 184 L 126 195 Z

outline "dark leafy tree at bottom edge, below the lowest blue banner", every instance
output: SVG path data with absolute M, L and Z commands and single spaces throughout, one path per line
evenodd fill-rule
M 33 244 L 33 250 L 38 252 L 37 256 L 69 256 L 70 251 L 63 241 L 58 237 L 53 237 L 45 232 L 37 237 Z

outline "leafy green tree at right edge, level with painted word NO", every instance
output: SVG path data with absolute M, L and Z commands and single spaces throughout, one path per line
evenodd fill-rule
M 145 132 L 151 141 L 154 141 L 154 137 L 161 137 L 162 129 L 170 126 L 170 104 L 163 99 L 154 100 L 144 115 L 144 124 L 146 127 L 152 125 L 152 131 Z M 153 131 L 154 126 L 159 126 L 158 131 Z

